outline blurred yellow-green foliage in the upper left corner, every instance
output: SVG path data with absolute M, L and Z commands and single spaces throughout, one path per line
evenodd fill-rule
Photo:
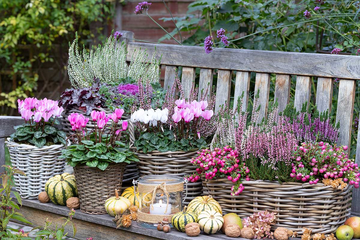
M 105 39 L 98 27 L 102 24 L 97 23 L 112 18 L 112 6 L 104 0 L 1 0 L 0 65 L 5 75 L 1 81 L 11 82 L 15 75 L 15 85 L 3 88 L 0 107 L 15 108 L 18 98 L 32 95 L 39 69 L 56 61 L 54 50 L 66 49 L 67 55 L 76 31 L 86 46 Z M 59 65 L 66 70 L 67 62 Z

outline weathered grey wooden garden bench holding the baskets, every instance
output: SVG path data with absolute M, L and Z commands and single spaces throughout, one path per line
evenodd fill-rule
M 192 81 L 195 79 L 195 68 L 200 68 L 199 88 L 204 89 L 208 83 L 212 85 L 214 69 L 217 71 L 216 110 L 219 105 L 229 102 L 232 71 L 236 71 L 234 99 L 245 92 L 244 106 L 248 103 L 250 73 L 256 73 L 255 92 L 260 89 L 260 115 L 266 117 L 270 74 L 276 74 L 275 98 L 278 98 L 279 110 L 289 103 L 291 76 L 296 75 L 294 104 L 297 109 L 305 102 L 311 101 L 312 77 L 318 78 L 315 103 L 320 111 L 331 109 L 334 78 L 339 78 L 339 92 L 336 121 L 341 121 L 339 144 L 350 145 L 352 119 L 357 80 L 360 80 L 360 56 L 325 55 L 312 53 L 289 53 L 280 51 L 258 51 L 246 49 L 216 48 L 210 54 L 204 53 L 203 47 L 179 46 L 168 44 L 149 44 L 133 42 L 134 33 L 122 31 L 121 40 L 126 41 L 128 48 L 127 60 L 135 49 L 145 50 L 152 55 L 157 52 L 161 64 L 165 67 L 164 87 L 171 86 L 175 78 L 175 69 L 182 67 L 181 81 L 185 95 L 189 95 Z M 164 67 L 162 69 L 164 69 Z M 252 91 L 252 90 L 251 90 Z M 235 104 L 234 104 L 235 105 Z M 21 124 L 19 117 L 0 116 L 0 166 L 4 164 L 4 140 L 14 130 L 13 126 Z M 360 131 L 358 133 L 360 139 Z M 360 142 L 357 142 L 356 162 L 360 164 Z M 352 199 L 352 214 L 360 216 L 360 191 L 354 191 Z M 67 215 L 67 207 L 52 203 L 40 203 L 38 200 L 23 200 L 21 212 L 33 224 L 42 225 L 46 218 L 55 220 Z M 169 233 L 137 227 L 134 222 L 129 229 L 115 229 L 112 217 L 108 215 L 89 215 L 76 211 L 74 222 L 77 226 L 76 239 L 93 237 L 101 239 L 192 239 L 183 232 L 171 230 Z M 72 230 L 67 229 L 71 236 Z M 196 239 L 231 239 L 222 234 L 200 235 Z

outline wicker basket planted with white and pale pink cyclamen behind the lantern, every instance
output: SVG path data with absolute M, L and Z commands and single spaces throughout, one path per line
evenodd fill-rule
M 177 88 L 179 99 L 175 95 Z M 198 89 L 193 83 L 190 96 L 185 99 L 176 76 L 171 89 L 166 92 L 162 109 L 153 109 L 148 84 L 139 89 L 140 109 L 130 118 L 137 134 L 130 135 L 130 141 L 140 159 L 140 175 L 185 176 L 192 173 L 195 168 L 189 163 L 190 159 L 199 149 L 207 147 L 209 137 L 216 130 L 212 118 L 215 96 L 209 97 L 207 90 L 197 101 Z M 189 184 L 185 204 L 201 193 L 201 183 Z

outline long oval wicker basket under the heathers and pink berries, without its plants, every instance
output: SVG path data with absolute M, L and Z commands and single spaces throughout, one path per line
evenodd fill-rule
M 313 233 L 334 232 L 350 215 L 351 189 L 333 189 L 323 184 L 296 182 L 279 184 L 272 181 L 243 181 L 245 189 L 231 196 L 233 183 L 227 178 L 206 180 L 204 194 L 216 199 L 224 213 L 237 213 L 241 218 L 254 212 L 276 212 L 276 227 L 286 227 L 302 234 L 302 227 Z

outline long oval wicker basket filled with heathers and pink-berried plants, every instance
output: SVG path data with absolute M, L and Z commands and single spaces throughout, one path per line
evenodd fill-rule
M 228 114 L 226 107 L 219 112 L 213 151 L 203 150 L 192 160 L 197 172 L 189 180 L 202 177 L 204 193 L 219 200 L 226 213 L 248 217 L 268 210 L 278 213 L 274 227 L 288 222 L 287 228 L 300 234 L 299 222 L 319 233 L 336 230 L 350 214 L 351 189 L 360 180 L 347 146 L 336 145 L 339 126 L 328 112 L 307 111 L 306 104 L 301 112 L 288 106 L 278 114 L 276 101 L 267 119 L 257 124 L 258 93 L 247 122 L 249 111 L 240 111 L 242 99 L 234 112 Z M 324 225 L 316 209 L 336 218 Z M 311 224 L 303 220 L 308 218 Z

